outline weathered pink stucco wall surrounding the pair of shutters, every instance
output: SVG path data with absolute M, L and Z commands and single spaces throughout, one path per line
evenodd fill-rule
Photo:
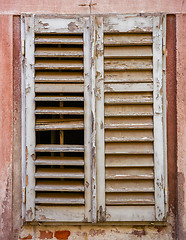
M 91 4 L 90 4 L 91 3 Z M 90 5 L 90 6 L 89 6 Z M 166 12 L 170 16 L 167 51 L 169 221 L 167 227 L 23 226 L 20 228 L 20 29 L 13 14 Z M 0 240 L 18 239 L 184 239 L 186 228 L 186 3 L 182 0 L 1 0 L 0 1 Z M 3 15 L 4 14 L 4 15 Z M 13 20 L 14 19 L 14 20 Z M 171 22 L 172 21 L 172 22 Z M 13 28 L 15 25 L 17 28 Z M 174 26 L 175 25 L 175 26 Z M 175 29 L 176 27 L 176 34 Z M 13 31 L 14 29 L 14 31 Z M 17 36 L 17 38 L 16 38 Z M 14 48 L 13 48 L 14 42 Z M 16 46 L 17 44 L 17 46 Z M 176 45 L 175 45 L 176 44 Z M 175 48 L 176 47 L 176 48 Z M 171 70 L 170 70 L 171 69 Z M 19 74 L 18 74 L 19 73 Z M 176 91 L 177 88 L 177 91 Z M 177 92 L 177 95 L 176 95 Z M 177 102 L 177 106 L 176 106 Z M 177 113 L 177 118 L 176 118 Z M 13 120 L 14 117 L 14 120 Z M 177 122 L 177 128 L 176 128 Z M 185 133 L 185 134 L 184 134 Z M 176 144 L 177 140 L 177 144 Z M 14 144 L 13 144 L 14 142 Z M 177 147 L 176 147 L 177 146 Z M 177 152 L 177 162 L 176 162 Z M 17 165 L 16 165 L 17 164 Z M 14 170 L 12 171 L 12 168 Z M 176 189 L 176 168 L 178 188 Z M 176 192 L 179 198 L 176 197 Z M 13 194 L 12 194 L 13 193 Z M 18 197 L 19 196 L 19 197 Z M 12 210 L 13 201 L 13 210 Z M 177 205 L 179 215 L 176 219 Z M 176 223 L 176 224 L 175 224 Z M 178 226 L 178 229 L 176 229 Z M 61 235 L 60 235 L 61 234 Z

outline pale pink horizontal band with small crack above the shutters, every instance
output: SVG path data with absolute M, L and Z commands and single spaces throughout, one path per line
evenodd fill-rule
M 143 13 L 186 12 L 184 0 L 1 0 L 0 13 Z

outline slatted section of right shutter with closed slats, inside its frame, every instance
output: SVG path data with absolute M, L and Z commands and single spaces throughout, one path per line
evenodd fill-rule
M 154 206 L 152 33 L 104 33 L 106 206 Z

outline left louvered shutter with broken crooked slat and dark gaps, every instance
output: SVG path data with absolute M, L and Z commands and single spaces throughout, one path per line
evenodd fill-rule
M 23 22 L 26 220 L 89 222 L 89 18 Z

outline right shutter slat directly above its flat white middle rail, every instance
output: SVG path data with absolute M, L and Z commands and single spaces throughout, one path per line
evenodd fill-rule
M 106 82 L 152 82 L 152 71 L 109 71 L 104 73 Z

